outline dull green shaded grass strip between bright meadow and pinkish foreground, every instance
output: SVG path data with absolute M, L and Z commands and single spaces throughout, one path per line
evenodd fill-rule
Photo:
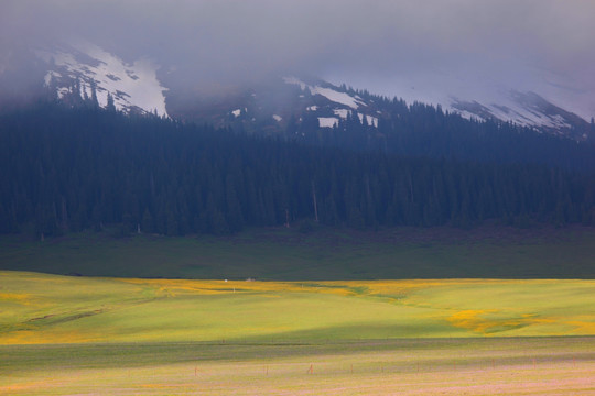
M 377 355 L 393 362 L 461 364 L 527 364 L 532 359 L 554 362 L 595 361 L 595 337 L 474 338 L 474 339 L 394 339 L 309 341 L 304 343 L 235 342 L 154 342 L 102 344 L 0 345 L 0 372 L 55 371 L 56 367 L 125 369 L 201 362 L 310 362 L 324 356 Z

